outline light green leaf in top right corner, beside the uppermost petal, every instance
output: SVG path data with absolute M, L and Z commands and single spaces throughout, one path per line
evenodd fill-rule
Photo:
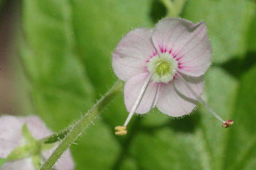
M 255 12 L 252 0 L 188 0 L 182 17 L 206 22 L 213 62 L 222 63 L 246 53 L 246 35 Z

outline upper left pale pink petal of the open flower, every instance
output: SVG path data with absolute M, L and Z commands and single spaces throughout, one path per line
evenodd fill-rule
M 151 40 L 153 29 L 136 28 L 125 35 L 113 52 L 112 66 L 115 74 L 123 81 L 144 73 L 146 61 L 156 54 Z

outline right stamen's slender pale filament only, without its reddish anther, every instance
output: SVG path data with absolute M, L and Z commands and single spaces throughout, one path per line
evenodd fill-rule
M 184 77 L 179 73 L 177 73 L 177 74 L 180 75 L 182 82 L 185 84 L 186 88 L 190 91 L 190 93 L 196 98 L 196 100 L 199 103 L 201 103 L 213 116 L 215 116 L 217 119 L 219 119 L 220 122 L 225 123 L 225 121 L 212 108 L 210 108 L 199 95 L 197 95 L 197 93 L 192 89 L 192 87 L 185 81 Z

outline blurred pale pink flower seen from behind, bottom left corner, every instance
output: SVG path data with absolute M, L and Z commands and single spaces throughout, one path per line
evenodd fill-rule
M 52 132 L 45 126 L 42 120 L 37 116 L 17 117 L 1 116 L 0 117 L 0 158 L 7 156 L 17 147 L 26 144 L 22 136 L 21 129 L 27 123 L 27 127 L 32 136 L 36 139 L 50 136 Z M 55 146 L 57 147 L 57 146 Z M 48 159 L 54 148 L 44 150 L 41 154 L 43 159 Z M 70 150 L 67 150 L 55 164 L 56 170 L 73 170 L 74 162 Z M 34 170 L 32 156 L 22 159 L 8 161 L 4 163 L 1 170 Z

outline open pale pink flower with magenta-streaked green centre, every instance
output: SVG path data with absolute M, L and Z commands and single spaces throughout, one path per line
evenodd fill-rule
M 201 100 L 211 55 L 205 22 L 165 18 L 154 29 L 140 27 L 125 35 L 112 61 L 114 73 L 126 82 L 124 101 L 130 114 L 124 126 L 134 112 L 144 114 L 154 107 L 174 117 L 191 113 Z

